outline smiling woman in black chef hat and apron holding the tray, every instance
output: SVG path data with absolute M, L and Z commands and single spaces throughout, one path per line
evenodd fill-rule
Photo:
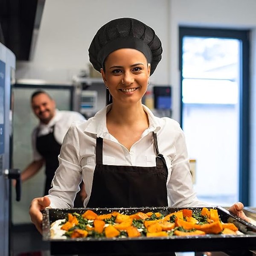
M 192 187 L 180 125 L 154 116 L 142 104 L 162 51 L 154 30 L 133 18 L 111 20 L 98 30 L 90 62 L 101 72 L 113 103 L 67 132 L 53 187 L 30 207 L 39 231 L 40 210 L 73 207 L 81 179 L 88 195 L 84 207 L 205 205 Z M 242 208 L 237 203 L 230 210 L 246 218 Z

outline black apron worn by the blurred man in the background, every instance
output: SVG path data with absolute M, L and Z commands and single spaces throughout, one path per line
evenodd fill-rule
M 37 131 L 38 135 L 39 130 Z M 49 134 L 43 135 L 36 138 L 36 149 L 44 157 L 45 160 L 45 175 L 46 181 L 44 186 L 44 195 L 49 194 L 51 189 L 52 179 L 55 171 L 58 168 L 58 155 L 61 151 L 61 144 L 59 144 L 53 135 L 54 125 L 51 127 Z

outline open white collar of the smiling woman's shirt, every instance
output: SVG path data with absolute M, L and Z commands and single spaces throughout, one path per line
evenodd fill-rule
M 84 129 L 85 132 L 96 134 L 97 137 L 106 138 L 109 136 L 107 129 L 106 116 L 108 111 L 111 109 L 111 105 L 106 106 L 102 110 L 98 111 L 90 120 L 87 121 L 87 127 Z M 160 119 L 151 112 L 149 108 L 143 105 L 144 111 L 148 115 L 149 127 L 146 131 L 154 131 L 155 133 L 160 130 Z

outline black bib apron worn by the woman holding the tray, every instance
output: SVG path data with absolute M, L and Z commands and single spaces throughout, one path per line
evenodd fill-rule
M 168 206 L 168 170 L 159 154 L 153 133 L 156 166 L 115 166 L 102 164 L 103 139 L 96 140 L 96 166 L 87 207 L 165 207 Z

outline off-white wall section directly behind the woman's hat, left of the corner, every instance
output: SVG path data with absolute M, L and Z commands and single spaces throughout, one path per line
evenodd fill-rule
M 118 17 L 134 17 L 161 38 L 165 54 L 151 81 L 166 84 L 168 12 L 168 0 L 46 0 L 34 57 L 29 63 L 18 63 L 17 78 L 70 80 L 87 68 L 90 42 L 102 25 Z

